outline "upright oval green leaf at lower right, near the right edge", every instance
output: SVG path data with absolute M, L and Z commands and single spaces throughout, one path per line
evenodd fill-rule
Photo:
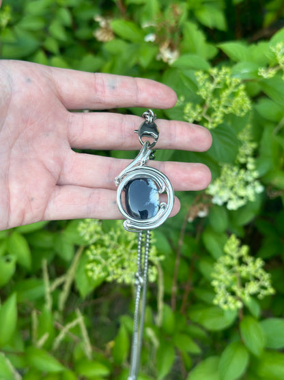
M 264 351 L 265 338 L 259 322 L 252 316 L 244 316 L 240 322 L 240 334 L 248 350 L 260 356 Z

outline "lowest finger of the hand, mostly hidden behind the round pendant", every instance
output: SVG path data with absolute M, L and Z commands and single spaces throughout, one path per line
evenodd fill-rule
M 171 216 L 179 210 L 180 201 L 175 198 Z M 56 186 L 46 207 L 44 220 L 79 218 L 122 219 L 116 203 L 116 192 L 80 186 Z

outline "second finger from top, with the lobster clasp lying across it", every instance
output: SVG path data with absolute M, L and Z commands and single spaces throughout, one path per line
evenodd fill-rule
M 70 113 L 68 134 L 70 145 L 77 149 L 139 149 L 134 130 L 143 118 L 104 112 Z M 160 135 L 156 148 L 207 151 L 212 143 L 208 129 L 183 121 L 158 119 Z

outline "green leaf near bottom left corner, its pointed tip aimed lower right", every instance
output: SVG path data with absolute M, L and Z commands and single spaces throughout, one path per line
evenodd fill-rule
M 27 348 L 26 359 L 29 366 L 42 372 L 57 373 L 66 369 L 53 355 L 33 346 Z

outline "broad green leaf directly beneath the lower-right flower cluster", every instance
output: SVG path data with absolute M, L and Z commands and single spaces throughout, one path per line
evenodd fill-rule
M 209 331 L 227 329 L 236 319 L 237 312 L 223 310 L 218 306 L 193 306 L 188 313 L 193 322 L 205 327 Z

